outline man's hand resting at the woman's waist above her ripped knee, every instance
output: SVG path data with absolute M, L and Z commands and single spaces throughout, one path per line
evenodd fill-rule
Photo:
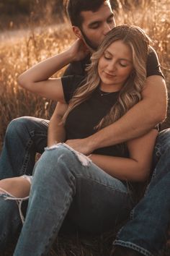
M 88 137 L 85 139 L 67 140 L 65 143 L 84 155 L 89 155 L 94 150 L 91 148 L 91 142 Z

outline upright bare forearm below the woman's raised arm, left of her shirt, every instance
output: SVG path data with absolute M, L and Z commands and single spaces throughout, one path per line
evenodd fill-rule
M 51 147 L 58 142 L 65 142 L 66 140 L 65 127 L 61 124 L 61 120 L 67 108 L 68 105 L 65 103 L 57 103 L 48 127 L 48 147 Z

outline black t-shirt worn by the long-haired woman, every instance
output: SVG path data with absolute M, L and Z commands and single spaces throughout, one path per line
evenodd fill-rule
M 70 101 L 76 88 L 84 84 L 82 76 L 62 77 L 63 93 L 66 103 Z M 91 97 L 73 108 L 66 119 L 66 140 L 82 139 L 97 132 L 97 124 L 109 113 L 110 108 L 117 101 L 119 92 L 101 93 L 99 87 L 94 90 Z M 128 157 L 128 151 L 117 146 L 99 148 L 94 153 L 101 155 L 115 155 Z

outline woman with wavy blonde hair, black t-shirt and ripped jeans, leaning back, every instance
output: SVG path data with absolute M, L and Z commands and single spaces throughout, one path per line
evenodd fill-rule
M 23 176 L 0 183 L 1 200 L 6 194 L 9 199 L 8 194 L 27 197 L 30 190 L 15 256 L 46 255 L 64 220 L 80 231 L 113 229 L 133 208 L 133 183 L 146 181 L 150 174 L 156 129 L 125 144 L 94 150 L 88 157 L 67 145 L 68 140 L 90 136 L 120 119 L 140 101 L 148 37 L 138 27 L 117 26 L 93 54 L 86 80 L 74 76 L 49 79 L 69 63 L 73 47 L 19 77 L 24 88 L 60 105 L 51 119 L 48 148 L 35 165 L 31 189 Z M 55 145 L 56 116 L 63 118 L 60 141 L 64 144 Z M 11 184 L 19 184 L 19 190 L 12 191 Z

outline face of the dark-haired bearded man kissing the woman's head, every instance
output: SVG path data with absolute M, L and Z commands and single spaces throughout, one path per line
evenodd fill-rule
M 84 20 L 81 25 L 82 39 L 87 46 L 93 50 L 97 50 L 104 36 L 109 30 L 115 27 L 115 18 L 112 9 L 108 2 L 105 1 L 97 12 L 81 12 L 81 17 Z

